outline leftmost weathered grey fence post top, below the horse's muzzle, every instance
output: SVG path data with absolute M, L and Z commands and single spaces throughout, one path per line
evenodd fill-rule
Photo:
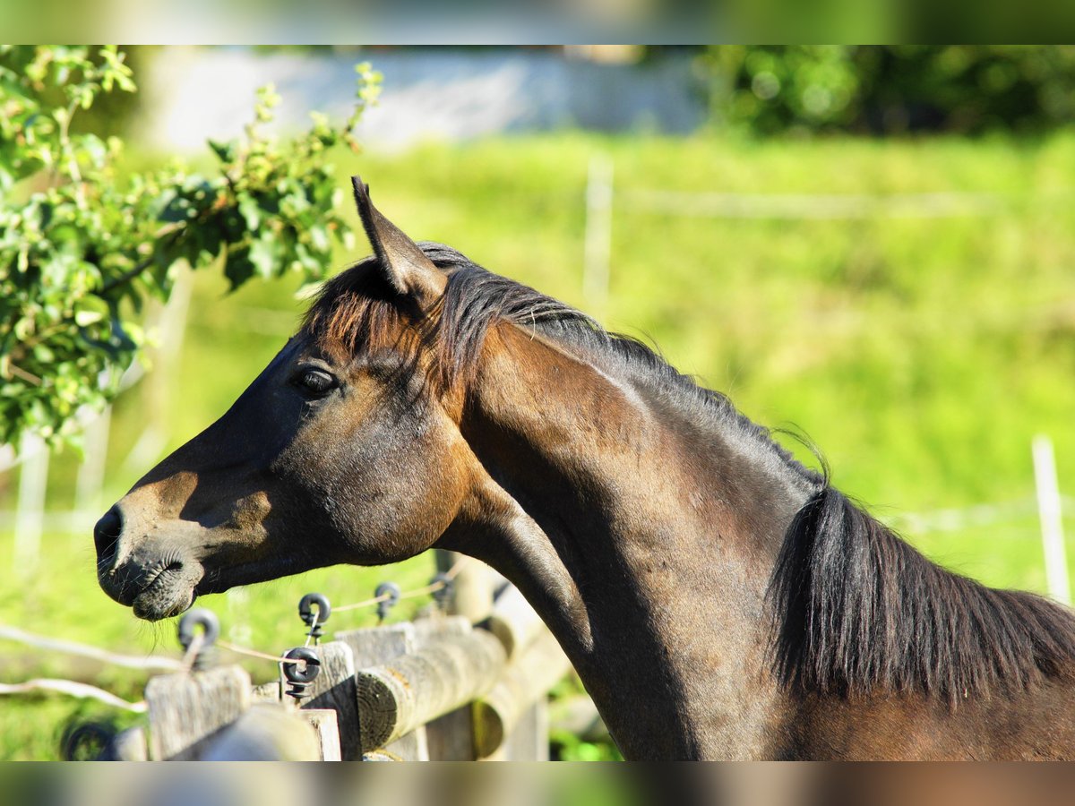
M 250 676 L 240 666 L 160 675 L 145 687 L 149 758 L 186 759 L 197 745 L 236 720 L 252 702 Z

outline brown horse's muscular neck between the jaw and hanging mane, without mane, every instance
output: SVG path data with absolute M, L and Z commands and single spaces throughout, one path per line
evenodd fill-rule
M 557 343 L 489 341 L 463 418 L 488 474 L 464 550 L 528 595 L 626 754 L 761 752 L 764 592 L 801 479 Z

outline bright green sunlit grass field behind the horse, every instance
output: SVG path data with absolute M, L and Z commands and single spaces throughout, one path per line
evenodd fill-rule
M 1016 502 L 999 519 L 955 519 L 907 536 L 990 584 L 1044 590 L 1033 434 L 1052 436 L 1061 488 L 1075 494 L 1075 134 L 749 143 L 565 133 L 347 155 L 339 172 L 342 182 L 360 172 L 377 205 L 415 238 L 449 243 L 585 308 L 584 196 L 598 153 L 613 157 L 622 193 L 610 301 L 598 312 L 611 329 L 656 343 L 757 421 L 808 434 L 836 485 L 883 518 Z M 630 193 L 643 190 L 958 191 L 999 201 L 987 214 L 954 217 L 744 219 L 632 206 Z M 366 251 L 362 243 L 341 253 L 340 267 Z M 225 411 L 301 312 L 293 283 L 224 289 L 210 273 L 197 279 L 161 414 L 170 447 Z M 145 470 L 124 458 L 144 428 L 146 395 L 135 387 L 115 407 L 110 502 Z M 70 456 L 54 462 L 52 507 L 70 507 L 75 467 Z M 0 480 L 9 485 L 0 507 L 13 505 L 16 478 Z M 11 557 L 10 537 L 0 551 Z M 204 604 L 244 643 L 284 649 L 301 635 L 295 605 L 307 590 L 361 599 L 392 576 L 420 585 L 430 568 L 419 558 L 403 570 L 327 570 Z M 52 534 L 40 571 L 4 563 L 0 575 L 0 622 L 115 650 L 173 647 L 173 624 L 141 624 L 97 589 L 88 534 Z M 69 675 L 140 696 L 138 676 L 12 645 L 0 653 L 2 680 Z M 269 677 L 269 665 L 252 670 Z M 51 757 L 75 709 L 57 700 L 0 703 L 0 758 Z

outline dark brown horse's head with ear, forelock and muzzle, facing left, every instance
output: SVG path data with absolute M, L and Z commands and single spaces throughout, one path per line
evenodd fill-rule
M 142 618 L 236 585 L 412 557 L 464 506 L 460 395 L 429 349 L 446 274 L 353 184 L 375 256 L 326 284 L 231 408 L 95 527 L 101 587 Z

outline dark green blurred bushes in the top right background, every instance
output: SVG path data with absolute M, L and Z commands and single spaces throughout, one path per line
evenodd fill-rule
M 715 45 L 714 114 L 759 134 L 1040 132 L 1075 119 L 1070 45 Z

